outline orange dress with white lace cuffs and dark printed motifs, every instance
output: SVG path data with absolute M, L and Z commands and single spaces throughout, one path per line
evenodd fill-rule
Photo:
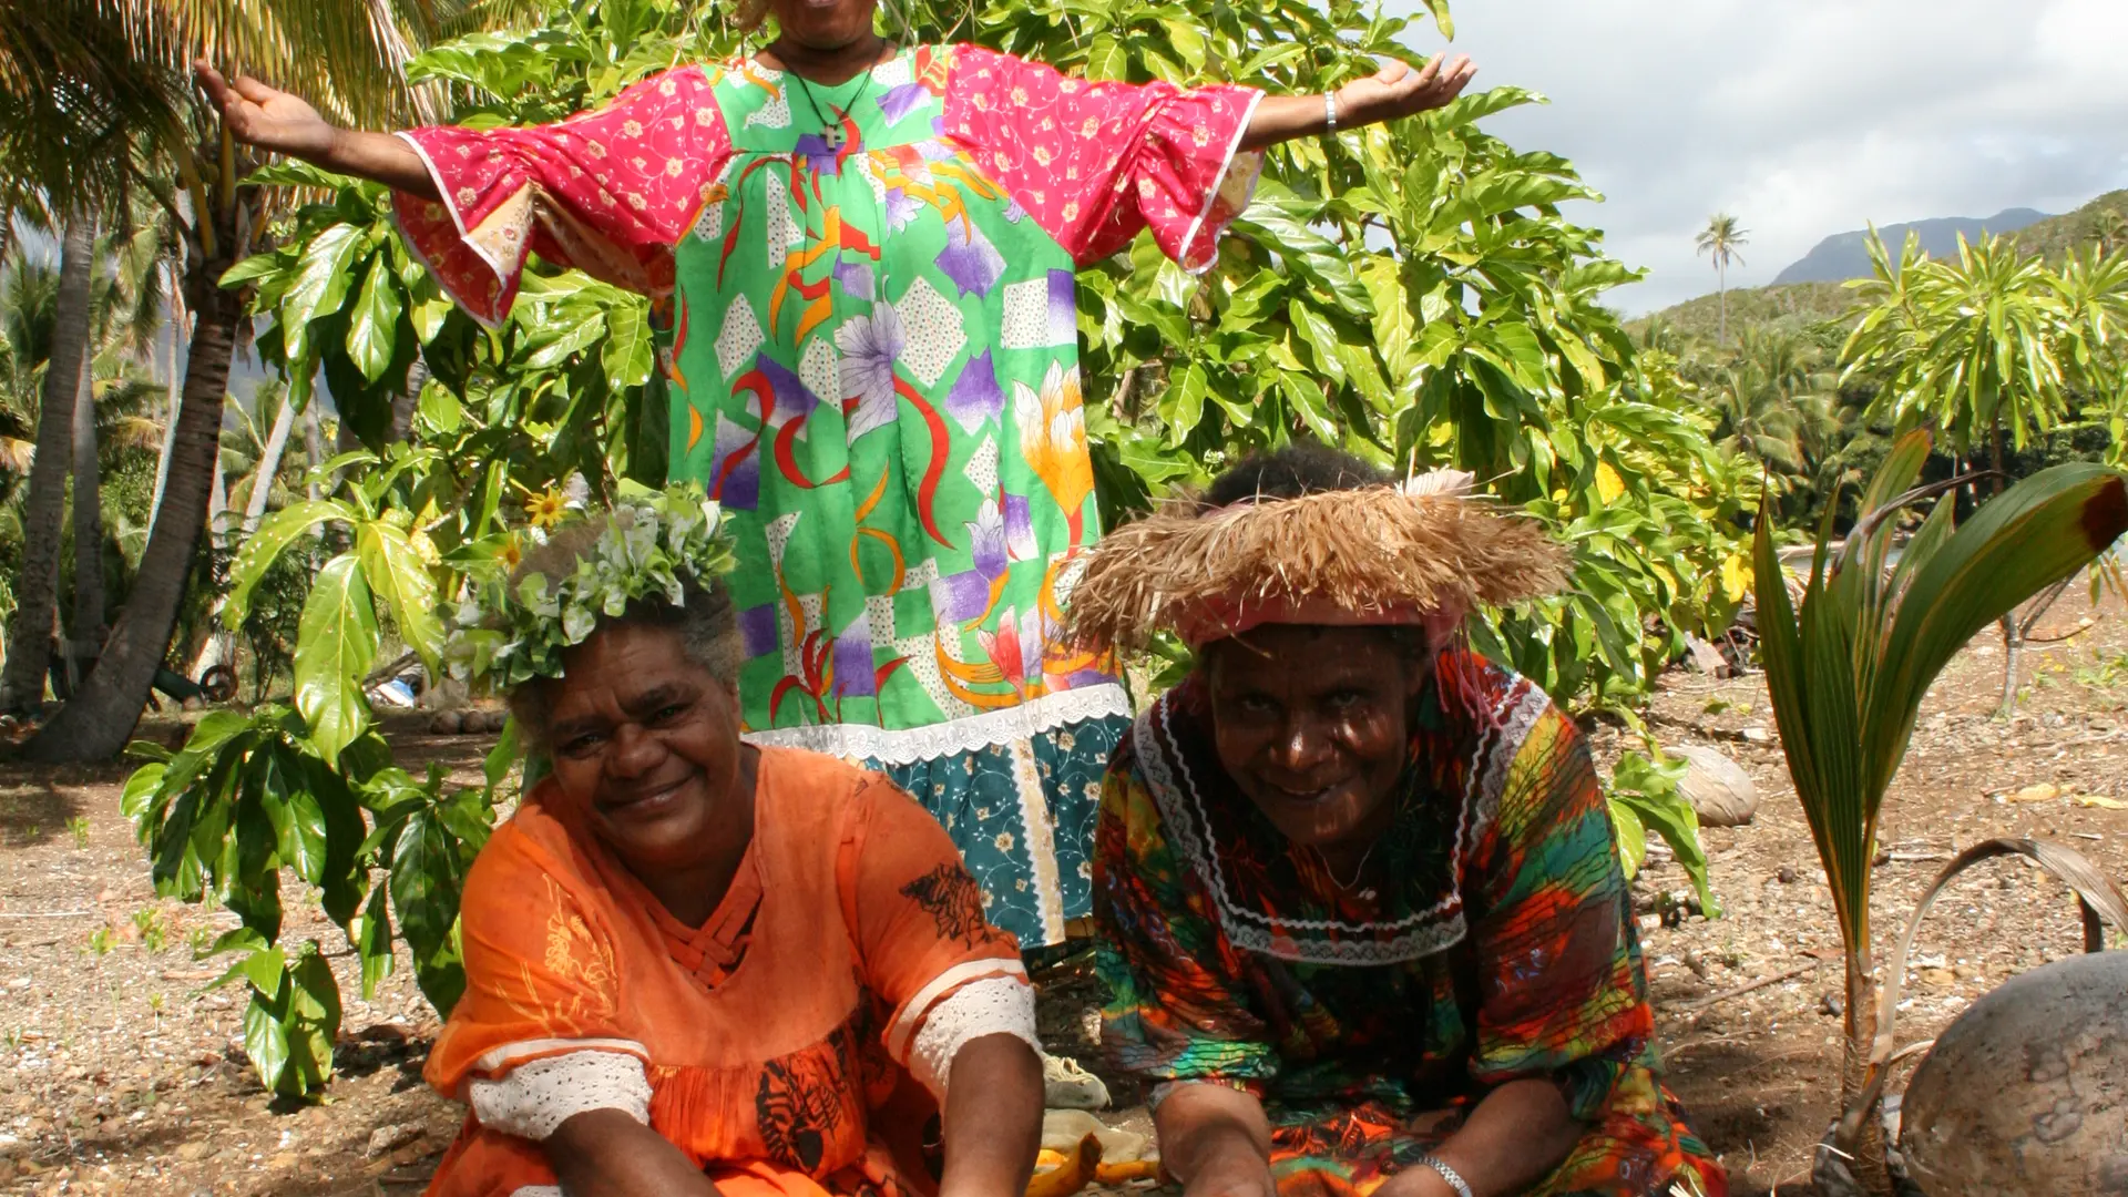
M 594 1065 L 592 1088 L 600 1069 L 647 1084 L 636 1116 L 726 1197 L 930 1193 L 919 1142 L 936 1105 L 911 1080 L 941 1084 L 917 1056 L 926 1024 L 970 986 L 1026 986 L 945 831 L 885 777 L 762 750 L 753 843 L 694 929 L 543 797 L 466 880 L 466 995 L 426 1078 L 475 1116 L 430 1193 L 553 1193 L 538 1142 L 481 1110 L 564 1059 Z M 581 1080 L 560 1088 L 538 1101 L 585 1103 Z

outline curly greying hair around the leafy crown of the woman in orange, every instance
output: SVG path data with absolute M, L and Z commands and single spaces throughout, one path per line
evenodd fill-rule
M 630 511 L 598 515 L 581 524 L 558 530 L 545 545 L 538 545 L 511 571 L 511 592 L 534 575 L 562 579 L 577 573 L 577 564 L 587 560 L 604 535 L 609 522 L 624 528 L 634 522 Z M 726 686 L 738 686 L 738 665 L 743 660 L 738 641 L 738 611 L 732 607 L 732 592 L 724 581 L 683 577 L 681 603 L 675 607 L 664 596 L 645 596 L 628 605 L 619 616 L 600 616 L 598 630 L 615 626 L 670 628 L 679 633 L 681 652 L 700 665 L 711 677 Z M 511 716 L 519 735 L 536 750 L 547 748 L 547 696 L 553 677 L 534 677 L 509 692 Z

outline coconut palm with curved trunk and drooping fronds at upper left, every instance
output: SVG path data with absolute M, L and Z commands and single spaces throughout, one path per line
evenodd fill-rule
M 230 358 L 245 332 L 245 296 L 217 283 L 251 253 L 270 196 L 243 183 L 255 162 L 192 102 L 183 83 L 189 62 L 204 55 L 268 72 L 345 124 L 409 124 L 430 113 L 426 96 L 406 85 L 402 64 L 438 19 L 464 19 L 464 9 L 423 0 L 0 6 L 0 117 L 51 109 L 40 100 L 47 92 L 79 96 L 85 111 L 113 113 L 96 128 L 66 113 L 47 126 L 0 119 L 13 130 L 0 143 L 0 166 L 9 177 L 36 179 L 45 194 L 68 194 L 68 162 L 79 160 L 92 136 L 123 145 L 128 153 L 115 155 L 119 185 L 155 194 L 179 230 L 183 292 L 194 319 L 168 475 L 132 594 L 96 673 L 28 745 L 30 756 L 89 760 L 126 743 L 168 652 L 206 524 Z M 155 179 L 164 175 L 177 175 L 181 192 L 160 190 Z

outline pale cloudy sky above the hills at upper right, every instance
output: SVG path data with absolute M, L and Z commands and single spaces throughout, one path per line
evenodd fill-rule
M 1715 211 L 1758 285 L 1868 222 L 2128 187 L 2128 0 L 1456 0 L 1456 26 L 1481 85 L 1551 98 L 1487 128 L 1605 194 L 1573 215 L 1649 270 L 1613 292 L 1630 313 L 1713 290 Z

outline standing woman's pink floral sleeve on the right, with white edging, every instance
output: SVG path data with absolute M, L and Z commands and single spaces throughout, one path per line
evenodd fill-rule
M 1004 53 L 960 47 L 945 134 L 1081 264 L 1141 228 L 1190 270 L 1249 204 L 1260 155 L 1241 153 L 1262 92 L 1090 83 Z

